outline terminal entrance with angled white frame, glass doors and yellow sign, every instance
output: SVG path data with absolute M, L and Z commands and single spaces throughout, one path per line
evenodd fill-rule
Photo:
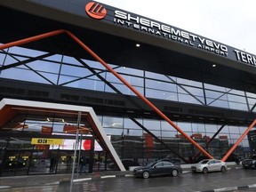
M 20 100 L 8 101 L 17 105 Z M 54 104 L 47 104 L 50 109 L 36 101 L 0 108 L 0 176 L 106 170 L 104 162 L 115 160 L 116 151 L 109 148 L 110 140 L 92 108 L 78 112 L 73 109 L 77 106 L 57 104 L 52 109 Z M 31 107 L 35 105 L 40 107 Z

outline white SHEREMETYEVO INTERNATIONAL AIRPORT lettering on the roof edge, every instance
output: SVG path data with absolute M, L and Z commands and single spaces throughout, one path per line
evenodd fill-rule
M 228 56 L 228 47 L 224 44 L 194 35 L 179 28 L 173 28 L 155 20 L 149 20 L 128 12 L 116 10 L 113 21 L 116 24 L 124 25 L 128 28 L 137 29 L 156 36 L 162 36 L 181 44 L 196 46 L 199 49 L 214 52 L 222 56 Z

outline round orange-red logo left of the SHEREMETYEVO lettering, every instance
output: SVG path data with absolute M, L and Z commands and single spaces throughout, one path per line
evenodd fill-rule
M 85 5 L 85 12 L 96 20 L 102 20 L 107 15 L 107 10 L 102 4 L 98 4 L 95 2 L 90 2 Z

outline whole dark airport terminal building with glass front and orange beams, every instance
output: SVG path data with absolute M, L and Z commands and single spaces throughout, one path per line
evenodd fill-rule
M 254 153 L 252 53 L 94 1 L 0 12 L 1 176 Z

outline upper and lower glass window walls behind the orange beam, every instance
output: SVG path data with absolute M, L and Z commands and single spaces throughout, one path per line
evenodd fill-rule
M 40 57 L 40 59 L 32 60 L 34 57 Z M 4 68 L 0 70 L 1 78 L 116 93 L 116 90 L 109 86 L 111 84 L 118 92 L 135 95 L 99 62 L 92 60 L 76 60 L 60 54 L 49 56 L 48 52 L 12 47 L 0 52 L 0 67 Z M 111 67 L 148 99 L 256 112 L 254 108 L 256 94 L 252 92 L 204 84 L 136 68 L 124 68 L 118 64 L 111 64 Z M 152 159 L 166 156 L 179 161 L 182 161 L 180 157 L 191 160 L 191 157 L 198 153 L 197 148 L 163 120 L 138 118 L 132 121 L 129 117 L 118 116 L 99 116 L 99 118 L 105 131 L 111 136 L 111 142 L 118 156 L 122 159 L 132 159 L 140 164 L 146 164 Z M 225 154 L 247 128 L 225 125 L 209 144 L 207 142 L 219 131 L 221 124 L 192 121 L 174 123 L 216 158 Z M 54 131 L 58 132 L 59 129 L 58 124 L 54 125 Z M 249 142 L 244 138 L 235 152 L 244 156 L 248 148 Z

